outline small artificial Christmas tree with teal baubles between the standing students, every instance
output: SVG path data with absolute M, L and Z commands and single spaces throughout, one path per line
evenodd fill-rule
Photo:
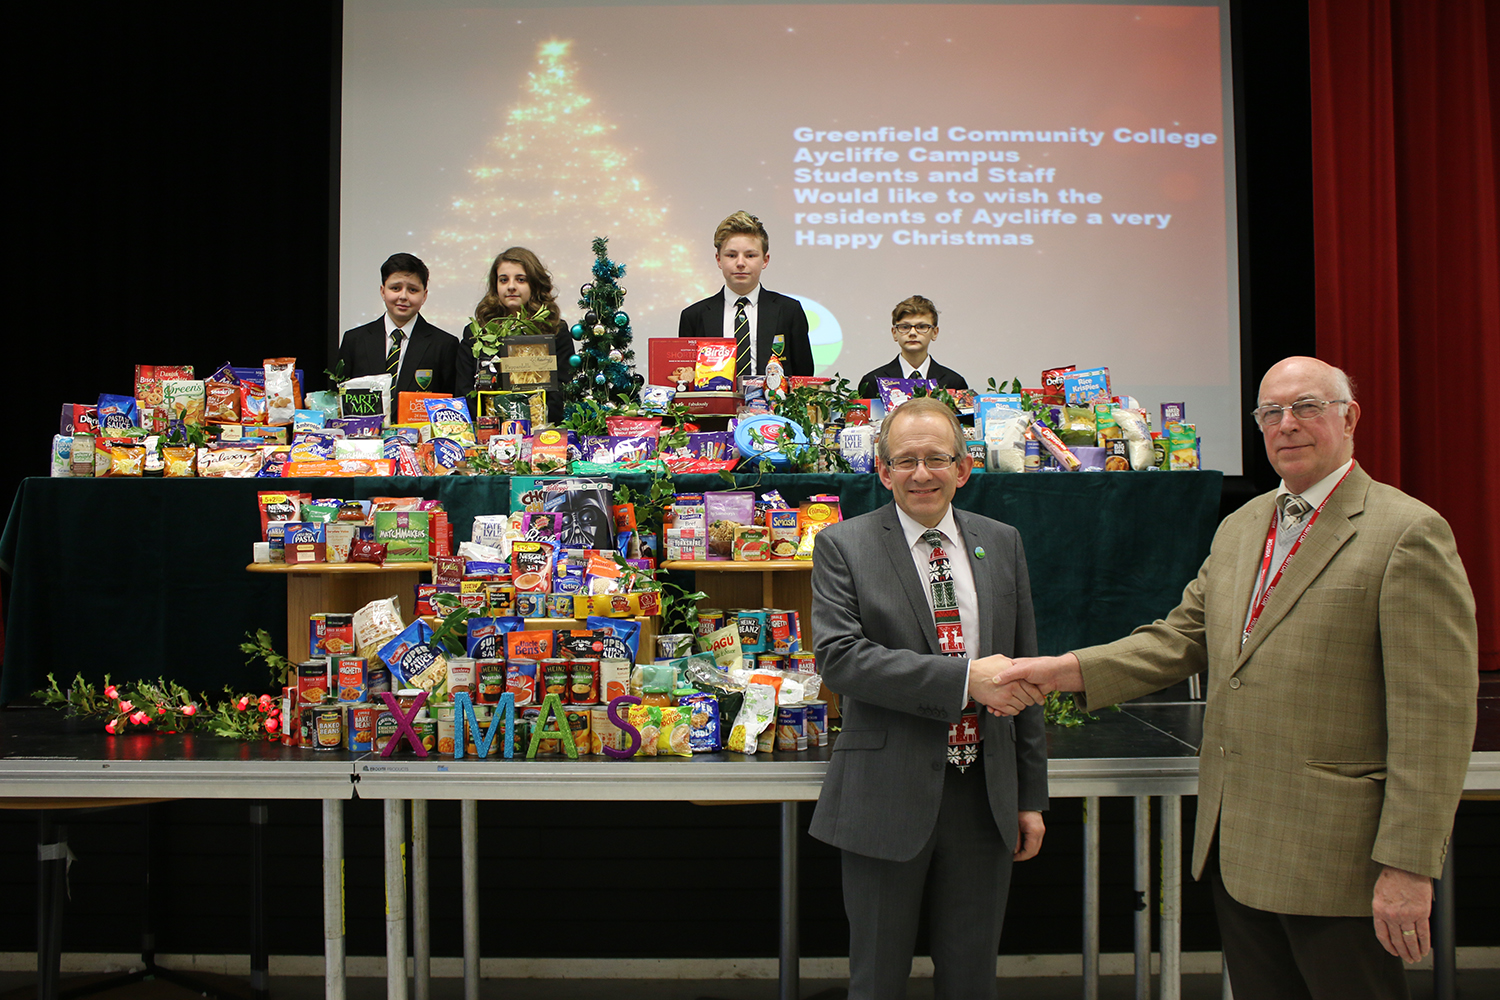
M 609 237 L 594 237 L 594 280 L 579 289 L 578 304 L 584 321 L 573 324 L 578 354 L 568 358 L 573 376 L 567 381 L 570 406 L 592 400 L 630 399 L 640 384 L 633 370 L 636 352 L 630 346 L 630 316 L 621 309 L 626 289 L 620 279 L 624 264 L 609 259 Z

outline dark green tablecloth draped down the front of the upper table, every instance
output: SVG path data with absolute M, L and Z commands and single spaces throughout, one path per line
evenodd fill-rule
M 1116 639 L 1178 603 L 1208 555 L 1221 483 L 1218 472 L 990 474 L 956 502 L 1020 529 L 1041 649 L 1060 652 Z M 507 477 L 26 480 L 0 535 L 0 568 L 12 574 L 0 703 L 27 697 L 48 672 L 64 684 L 82 672 L 262 688 L 264 669 L 246 666 L 238 643 L 264 628 L 285 649 L 285 577 L 244 570 L 260 540 L 255 495 L 272 489 L 436 498 L 458 541 L 474 514 L 510 510 Z M 678 489 L 726 486 L 684 475 Z M 837 493 L 844 516 L 891 499 L 874 475 L 766 475 L 756 489 L 790 502 Z

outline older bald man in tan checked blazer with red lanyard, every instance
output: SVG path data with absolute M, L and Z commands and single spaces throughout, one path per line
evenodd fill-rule
M 1095 709 L 1208 667 L 1192 868 L 1236 999 L 1406 997 L 1473 744 L 1474 598 L 1448 522 L 1353 462 L 1348 376 L 1287 358 L 1252 415 L 1281 487 L 1182 603 L 998 679 Z

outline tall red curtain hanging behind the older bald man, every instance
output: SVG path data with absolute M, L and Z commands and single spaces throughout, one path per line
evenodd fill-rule
M 1500 3 L 1310 0 L 1317 354 L 1356 456 L 1454 526 L 1500 670 Z

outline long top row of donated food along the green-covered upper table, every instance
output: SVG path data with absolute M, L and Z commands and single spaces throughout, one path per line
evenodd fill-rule
M 668 339 L 654 339 L 652 351 L 658 340 Z M 723 345 L 696 343 L 704 360 L 675 373 L 688 376 L 686 382 L 644 385 L 634 397 L 603 408 L 591 424 L 603 433 L 548 426 L 544 390 L 393 394 L 390 375 L 372 375 L 304 396 L 296 358 L 267 358 L 260 367 L 225 364 L 206 379 L 195 379 L 190 366 L 138 364 L 132 396 L 63 405 L 51 474 L 718 472 L 742 460 L 873 472 L 882 420 L 918 394 L 938 394 L 957 409 L 976 471 L 1198 468 L 1200 439 L 1184 405 L 1162 403 L 1161 427 L 1154 430 L 1150 411 L 1114 394 L 1106 367 L 1048 369 L 1040 388 L 1014 393 L 946 393 L 922 379 L 878 379 L 879 396 L 861 400 L 826 376 L 735 382 L 732 367 L 730 376 L 723 373 Z M 728 357 L 734 360 L 732 349 Z M 790 412 L 788 393 L 812 388 L 828 390 L 828 397 Z

